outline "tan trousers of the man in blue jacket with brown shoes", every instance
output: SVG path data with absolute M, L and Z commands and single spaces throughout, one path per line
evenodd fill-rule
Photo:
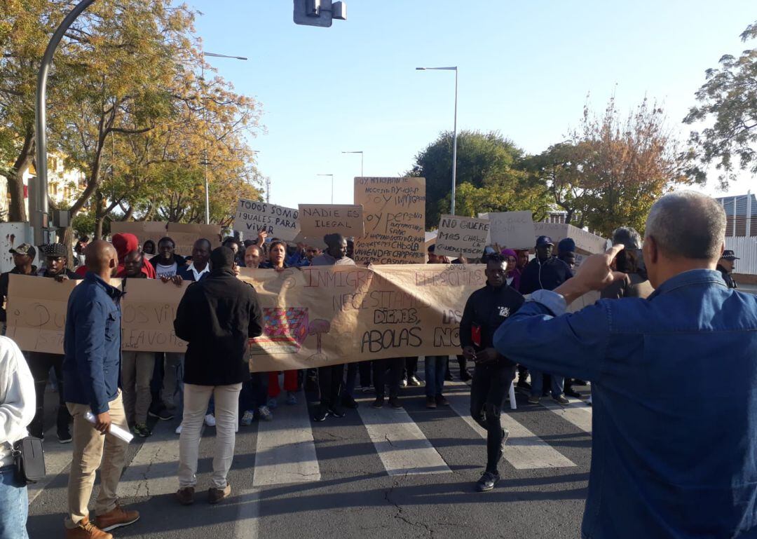
M 123 412 L 121 393 L 108 403 L 111 421 L 114 425 L 129 430 L 126 414 Z M 73 460 L 68 477 L 68 517 L 66 527 L 74 528 L 89 516 L 89 498 L 95 485 L 95 472 L 100 469 L 100 493 L 95 502 L 95 514 L 102 515 L 116 507 L 116 488 L 121 478 L 126 450 L 129 444 L 114 435 L 101 435 L 95 425 L 84 419 L 89 412 L 86 404 L 66 403 L 73 416 Z

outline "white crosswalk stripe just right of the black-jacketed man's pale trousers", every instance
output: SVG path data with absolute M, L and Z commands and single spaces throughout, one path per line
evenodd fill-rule
M 294 406 L 278 407 L 273 417 L 257 427 L 253 486 L 320 481 L 305 394 Z

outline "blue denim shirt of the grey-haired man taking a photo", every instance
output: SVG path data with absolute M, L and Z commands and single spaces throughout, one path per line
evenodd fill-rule
M 757 297 L 695 269 L 646 300 L 563 313 L 534 292 L 494 346 L 592 382 L 582 536 L 757 537 Z

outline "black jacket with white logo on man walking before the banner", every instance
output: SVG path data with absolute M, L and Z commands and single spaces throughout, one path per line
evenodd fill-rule
M 484 288 L 473 292 L 466 302 L 463 319 L 460 321 L 460 346 L 472 346 L 477 352 L 494 347 L 494 332 L 508 316 L 516 313 L 524 302 L 523 296 L 509 285 L 494 288 L 487 283 Z M 473 332 L 476 328 L 481 332 L 479 344 L 473 342 Z M 500 360 L 500 364 L 515 365 L 506 358 Z

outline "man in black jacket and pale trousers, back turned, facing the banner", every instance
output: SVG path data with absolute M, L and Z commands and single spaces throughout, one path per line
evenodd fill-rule
M 188 341 L 176 492 L 183 505 L 195 500 L 200 428 L 211 395 L 216 401 L 216 447 L 208 501 L 218 503 L 231 494 L 226 476 L 234 456 L 239 391 L 250 379 L 248 338 L 263 332 L 257 294 L 236 278 L 233 263 L 231 249 L 213 250 L 210 276 L 189 285 L 173 321 L 176 336 Z

